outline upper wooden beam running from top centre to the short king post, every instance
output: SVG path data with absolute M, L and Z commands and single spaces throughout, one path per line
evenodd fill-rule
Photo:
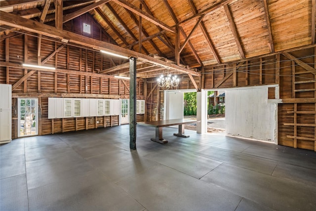
M 122 1 L 122 0 L 112 0 L 112 1 L 117 3 L 118 5 L 120 5 L 122 7 L 125 7 L 126 9 L 134 12 L 135 14 L 137 14 L 139 16 L 142 16 L 144 19 L 148 20 L 149 22 L 160 26 L 162 29 L 165 29 L 168 32 L 175 33 L 175 29 L 174 28 L 164 24 L 163 22 L 159 21 L 154 16 L 145 13 L 143 10 L 140 10 L 139 8 L 134 6 L 133 4 L 131 4 L 131 3 L 127 2 L 127 1 Z

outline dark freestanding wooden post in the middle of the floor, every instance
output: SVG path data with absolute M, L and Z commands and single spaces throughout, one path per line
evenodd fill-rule
M 136 150 L 136 58 L 129 58 L 129 148 Z

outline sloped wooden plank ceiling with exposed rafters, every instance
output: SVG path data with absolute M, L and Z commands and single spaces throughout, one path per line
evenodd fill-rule
M 2 0 L 0 36 L 30 30 L 13 20 L 1 21 L 7 13 L 50 26 L 56 23 L 57 28 L 58 23 L 89 13 L 120 47 L 108 48 L 139 59 L 139 78 L 157 77 L 165 69 L 199 76 L 207 65 L 315 44 L 315 4 L 315 0 Z M 55 8 L 58 5 L 62 9 Z M 47 36 L 41 29 L 33 32 Z M 102 73 L 128 75 L 128 66 Z

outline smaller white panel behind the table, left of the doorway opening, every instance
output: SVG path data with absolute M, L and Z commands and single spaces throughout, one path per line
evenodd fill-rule
M 183 92 L 164 92 L 164 120 L 183 119 Z

